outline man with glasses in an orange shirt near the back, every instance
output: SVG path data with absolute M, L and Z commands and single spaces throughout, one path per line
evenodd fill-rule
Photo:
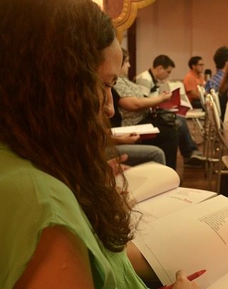
M 202 57 L 193 56 L 190 58 L 188 65 L 190 67 L 190 71 L 183 79 L 185 91 L 190 99 L 190 102 L 192 103 L 192 107 L 201 108 L 202 106 L 199 100 L 199 90 L 197 89 L 197 85 L 204 86 L 204 78 L 202 76 L 204 63 L 202 61 Z

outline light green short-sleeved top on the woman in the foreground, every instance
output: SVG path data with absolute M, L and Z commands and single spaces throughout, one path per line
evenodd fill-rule
M 125 251 L 103 247 L 68 187 L 0 145 L 0 288 L 11 289 L 43 228 L 65 226 L 88 248 L 95 288 L 146 288 Z

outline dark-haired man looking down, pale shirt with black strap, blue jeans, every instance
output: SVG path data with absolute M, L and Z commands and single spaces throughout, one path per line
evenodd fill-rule
M 168 56 L 160 55 L 153 61 L 152 67 L 136 76 L 136 83 L 142 88 L 142 93 L 147 97 L 154 97 L 160 93 L 158 80 L 165 80 L 175 63 Z M 197 144 L 192 140 L 187 122 L 184 117 L 177 116 L 177 132 L 179 137 L 179 148 L 184 158 L 185 166 L 201 166 L 204 157 L 199 152 Z

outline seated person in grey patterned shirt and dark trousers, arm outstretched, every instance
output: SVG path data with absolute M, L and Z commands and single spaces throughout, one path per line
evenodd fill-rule
M 126 75 L 128 75 L 129 65 L 128 51 L 123 49 L 123 63 L 120 76 L 114 86 L 120 96 L 118 109 L 122 117 L 121 125 L 128 126 L 151 123 L 155 127 L 158 127 L 160 133 L 152 139 L 142 140 L 142 144 L 160 147 L 160 149 L 165 152 L 167 166 L 176 169 L 178 137 L 175 127 L 175 117 L 173 117 L 174 114 L 171 114 L 172 121 L 170 120 L 168 124 L 160 122 L 160 117 L 150 114 L 150 107 L 170 99 L 172 94 L 162 93 L 162 95 L 156 98 L 145 98 L 139 85 L 136 85 L 126 77 Z

